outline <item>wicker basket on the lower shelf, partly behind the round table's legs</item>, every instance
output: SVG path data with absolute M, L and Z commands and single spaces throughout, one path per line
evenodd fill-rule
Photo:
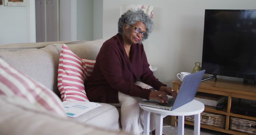
M 201 113 L 201 124 L 210 125 L 214 127 L 220 127 L 224 129 L 226 116 L 221 114 L 202 112 Z M 185 121 L 194 122 L 194 115 L 185 116 Z

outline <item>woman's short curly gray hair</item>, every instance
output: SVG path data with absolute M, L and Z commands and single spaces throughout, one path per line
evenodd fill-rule
M 154 23 L 153 21 L 149 18 L 147 14 L 143 12 L 143 10 L 128 10 L 118 20 L 118 33 L 120 35 L 123 34 L 123 26 L 124 23 L 126 23 L 126 26 L 128 27 L 129 24 L 134 24 L 135 22 L 142 21 L 146 25 L 146 36 L 142 39 L 142 41 L 146 40 L 149 36 L 149 34 L 153 30 Z

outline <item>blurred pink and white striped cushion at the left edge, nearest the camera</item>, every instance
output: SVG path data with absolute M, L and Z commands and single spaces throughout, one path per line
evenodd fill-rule
M 58 96 L 0 58 L 0 95 L 18 96 L 41 108 L 66 116 Z

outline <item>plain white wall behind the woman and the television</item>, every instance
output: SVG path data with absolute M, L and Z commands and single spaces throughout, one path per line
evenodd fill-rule
M 177 73 L 192 72 L 202 61 L 205 9 L 256 9 L 255 0 L 103 0 L 104 39 L 117 33 L 121 4 L 154 6 L 154 30 L 144 48 L 158 67 L 155 76 L 170 86 Z

